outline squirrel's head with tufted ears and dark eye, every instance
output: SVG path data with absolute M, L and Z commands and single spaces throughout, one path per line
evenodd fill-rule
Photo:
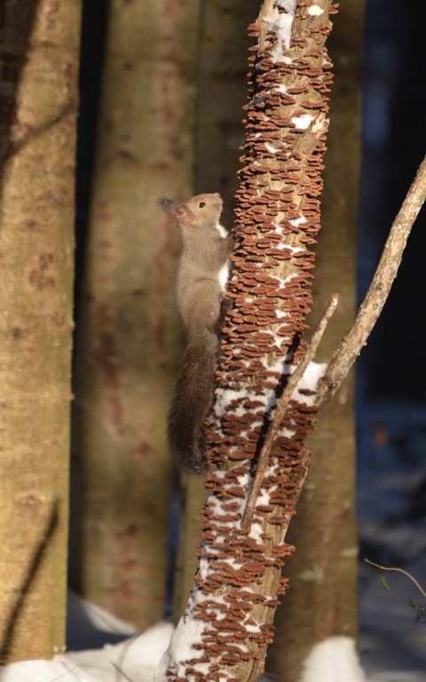
M 222 212 L 220 194 L 198 194 L 187 202 L 176 202 L 167 196 L 158 199 L 158 205 L 182 227 L 216 228 Z

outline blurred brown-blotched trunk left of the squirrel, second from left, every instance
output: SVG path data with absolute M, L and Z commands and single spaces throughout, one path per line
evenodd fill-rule
M 111 3 L 78 325 L 72 572 L 141 629 L 165 601 L 165 412 L 180 353 L 177 234 L 156 199 L 191 194 L 197 12 L 195 0 Z

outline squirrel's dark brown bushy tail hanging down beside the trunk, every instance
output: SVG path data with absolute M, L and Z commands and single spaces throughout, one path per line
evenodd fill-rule
M 213 404 L 216 345 L 215 337 L 186 346 L 170 403 L 170 449 L 179 469 L 187 473 L 206 471 L 203 424 Z

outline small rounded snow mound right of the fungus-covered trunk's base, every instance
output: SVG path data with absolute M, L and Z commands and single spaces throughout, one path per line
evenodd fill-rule
M 330 637 L 314 646 L 304 661 L 300 682 L 366 682 L 355 641 Z

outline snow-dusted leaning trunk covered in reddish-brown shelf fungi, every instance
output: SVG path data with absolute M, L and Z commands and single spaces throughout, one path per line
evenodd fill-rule
M 272 641 L 277 595 L 292 547 L 289 520 L 304 483 L 317 380 L 311 363 L 272 446 L 248 532 L 241 517 L 269 414 L 304 356 L 312 302 L 312 245 L 331 83 L 327 0 L 266 0 L 249 27 L 250 57 L 237 223 L 218 388 L 209 423 L 215 471 L 203 510 L 200 566 L 156 680 L 255 680 Z

